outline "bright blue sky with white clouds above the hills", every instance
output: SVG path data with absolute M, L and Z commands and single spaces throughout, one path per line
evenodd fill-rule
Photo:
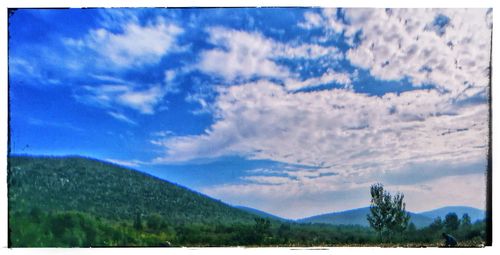
M 82 155 L 286 218 L 484 209 L 491 9 L 22 9 L 10 153 Z

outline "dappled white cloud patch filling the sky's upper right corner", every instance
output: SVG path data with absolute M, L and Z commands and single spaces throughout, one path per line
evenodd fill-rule
M 339 31 L 335 12 L 323 14 L 324 24 Z M 344 14 L 350 25 L 341 24 L 342 29 L 352 43 L 355 33 L 362 31 L 360 44 L 346 57 L 373 76 L 409 77 L 416 86 L 435 84 L 455 96 L 467 87 L 477 92 L 488 86 L 491 12 L 487 9 L 352 8 Z M 449 23 L 438 27 L 438 15 L 448 17 Z

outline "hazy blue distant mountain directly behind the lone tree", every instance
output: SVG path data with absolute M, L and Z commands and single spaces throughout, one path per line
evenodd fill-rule
M 368 220 L 366 219 L 366 215 L 370 213 L 369 207 L 363 207 L 353 210 L 347 210 L 342 212 L 334 212 L 321 214 L 317 216 L 312 216 L 304 219 L 297 220 L 300 223 L 327 223 L 333 225 L 360 225 L 360 226 L 369 226 Z M 409 212 L 411 219 L 410 222 L 413 222 L 417 228 L 428 226 L 432 223 L 432 218 L 415 214 Z

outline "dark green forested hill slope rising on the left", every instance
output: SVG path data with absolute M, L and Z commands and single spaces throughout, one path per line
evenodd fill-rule
M 253 222 L 255 215 L 153 176 L 81 157 L 9 158 L 9 211 L 81 211 L 132 220 L 159 214 L 171 223 Z

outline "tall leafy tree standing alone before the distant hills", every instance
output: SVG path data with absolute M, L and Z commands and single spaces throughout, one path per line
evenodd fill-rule
M 405 211 L 404 195 L 397 193 L 392 197 L 380 183 L 372 185 L 370 193 L 372 199 L 367 220 L 381 240 L 383 236 L 391 240 L 394 233 L 401 233 L 408 227 L 410 215 Z

